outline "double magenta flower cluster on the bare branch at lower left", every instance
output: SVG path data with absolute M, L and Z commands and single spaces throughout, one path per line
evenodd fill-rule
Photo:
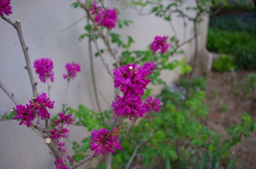
M 41 117 L 42 120 L 49 118 L 50 114 L 47 108 L 54 108 L 54 101 L 51 101 L 50 98 L 46 96 L 46 93 L 42 93 L 40 96 L 30 100 L 29 103 L 30 104 L 26 104 L 26 106 L 22 104 L 16 106 L 17 115 L 12 119 L 22 120 L 19 125 L 24 123 L 29 127 L 31 122 L 35 119 L 35 114 Z

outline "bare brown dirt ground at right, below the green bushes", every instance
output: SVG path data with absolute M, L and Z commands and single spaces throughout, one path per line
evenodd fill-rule
M 248 73 L 255 72 L 210 72 L 207 76 L 207 125 L 223 139 L 228 138 L 225 128 L 241 123 L 244 111 L 248 111 L 252 119 L 256 118 L 256 91 L 244 97 L 238 87 Z M 232 148 L 231 153 L 237 156 L 238 164 L 243 163 L 243 168 L 256 168 L 256 133 L 242 138 L 242 143 Z

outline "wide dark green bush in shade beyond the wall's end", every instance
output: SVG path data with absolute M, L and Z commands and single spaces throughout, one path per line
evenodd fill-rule
M 209 29 L 207 48 L 210 51 L 234 55 L 239 68 L 256 69 L 256 35 Z

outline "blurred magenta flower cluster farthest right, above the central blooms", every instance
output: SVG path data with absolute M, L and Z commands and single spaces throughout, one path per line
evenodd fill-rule
M 168 37 L 166 36 L 156 36 L 154 41 L 151 43 L 153 53 L 156 53 L 158 49 L 161 49 L 161 53 L 164 53 L 170 46 L 170 44 L 166 42 L 167 39 Z

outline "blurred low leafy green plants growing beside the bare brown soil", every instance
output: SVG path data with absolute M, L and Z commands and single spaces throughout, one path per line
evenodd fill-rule
M 152 139 L 137 154 L 137 161 L 142 161 L 147 168 L 162 166 L 163 163 L 165 168 L 208 168 L 209 164 L 214 168 L 223 165 L 236 168 L 236 159 L 229 159 L 229 150 L 241 142 L 241 136 L 250 136 L 256 122 L 247 113 L 243 114 L 242 123 L 228 129 L 231 139 L 221 141 L 218 134 L 200 123 L 208 110 L 203 102 L 205 83 L 196 81 L 202 82 L 202 78 L 192 83 L 182 80 L 178 84 L 189 86 L 178 85 L 161 92 L 161 111 L 148 114 L 125 134 L 121 140 L 122 151 L 114 155 L 113 168 L 124 168 L 135 147 L 152 133 Z M 185 99 L 181 95 L 185 95 Z

